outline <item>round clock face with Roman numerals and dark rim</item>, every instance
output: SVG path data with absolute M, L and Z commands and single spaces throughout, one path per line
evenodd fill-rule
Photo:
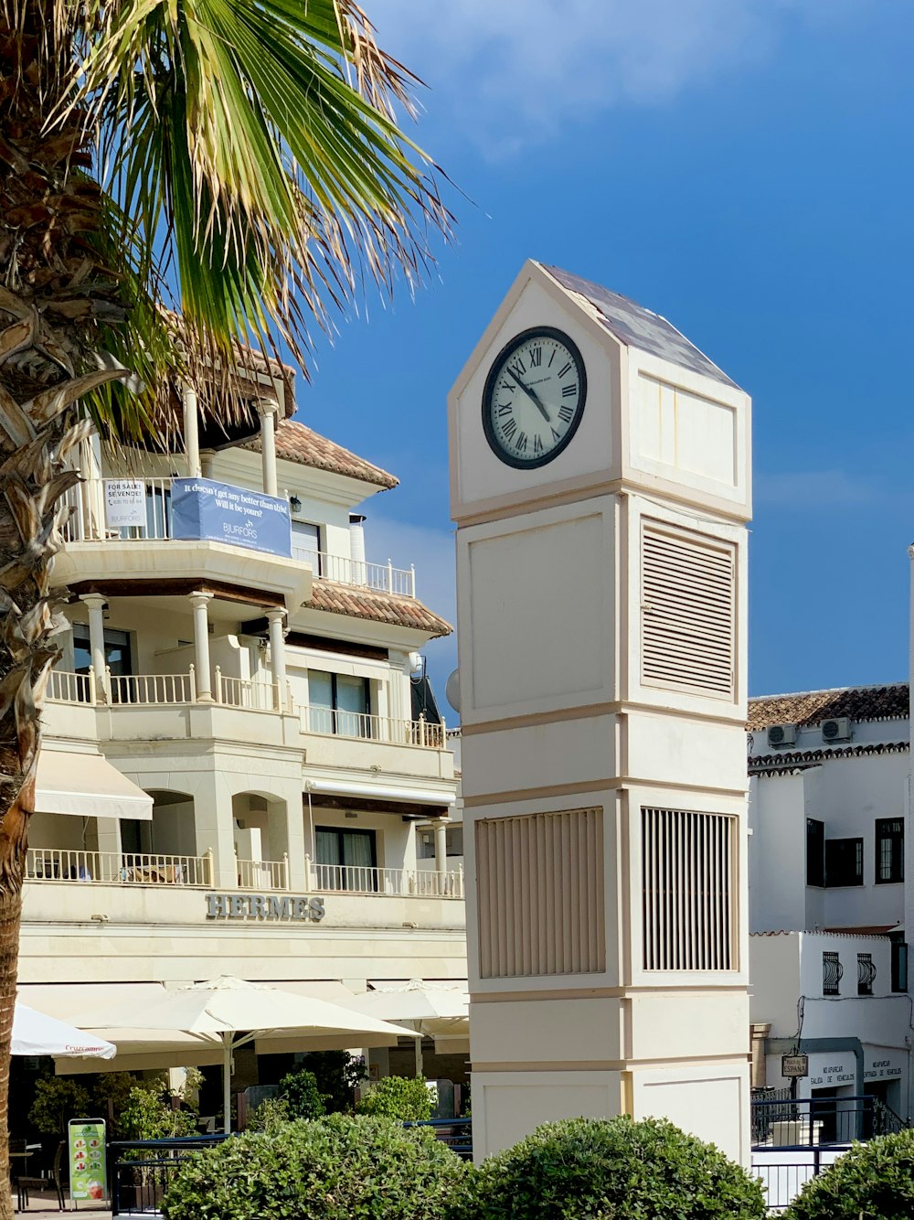
M 576 345 L 537 326 L 498 353 L 483 393 L 483 429 L 492 451 L 520 470 L 545 466 L 581 422 L 587 377 Z

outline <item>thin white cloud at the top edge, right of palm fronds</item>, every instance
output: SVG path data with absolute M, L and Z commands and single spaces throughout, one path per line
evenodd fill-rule
M 820 24 L 824 10 L 830 21 L 866 11 L 863 0 L 377 0 L 369 11 L 450 121 L 502 155 L 569 118 L 662 104 L 758 63 L 791 18 Z

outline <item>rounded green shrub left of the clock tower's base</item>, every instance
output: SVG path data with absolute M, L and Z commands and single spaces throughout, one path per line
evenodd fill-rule
M 167 1220 L 439 1220 L 466 1168 L 428 1127 L 329 1115 L 189 1157 Z

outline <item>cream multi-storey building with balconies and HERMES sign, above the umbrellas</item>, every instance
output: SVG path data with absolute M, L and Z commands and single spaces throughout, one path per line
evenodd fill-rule
M 420 572 L 366 558 L 396 478 L 260 390 L 232 437 L 185 395 L 186 453 L 82 454 L 19 956 L 54 1015 L 219 974 L 327 998 L 466 978 L 452 754 L 412 678 L 451 628 Z

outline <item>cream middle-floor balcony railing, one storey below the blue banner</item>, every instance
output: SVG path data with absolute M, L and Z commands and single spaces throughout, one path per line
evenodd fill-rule
M 278 682 L 228 677 L 222 673 L 218 665 L 213 671 L 212 695 L 206 699 L 199 698 L 193 665 L 188 667 L 186 673 L 115 675 L 106 669 L 101 683 L 95 682 L 90 673 L 51 670 L 45 698 L 50 704 L 100 706 L 112 712 L 117 712 L 118 709 L 195 705 L 274 716 L 285 714 L 297 716 L 300 731 L 306 734 L 427 750 L 447 748 L 444 723 L 435 725 L 424 717 L 395 720 L 390 716 L 295 704 L 288 687 L 283 694 Z

